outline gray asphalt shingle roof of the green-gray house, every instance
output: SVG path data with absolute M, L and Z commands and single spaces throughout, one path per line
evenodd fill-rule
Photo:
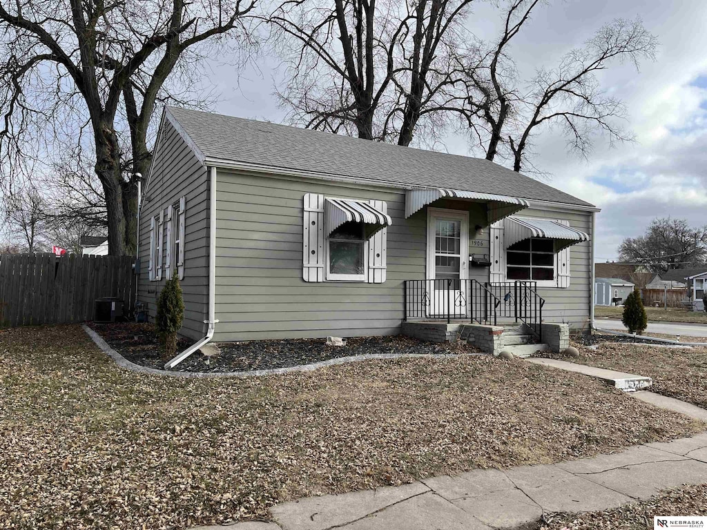
M 578 206 L 592 204 L 507 167 L 423 149 L 169 107 L 206 158 L 394 184 L 462 189 Z

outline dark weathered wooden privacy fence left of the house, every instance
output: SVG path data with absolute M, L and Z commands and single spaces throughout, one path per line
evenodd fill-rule
M 95 299 L 109 296 L 131 312 L 133 262 L 129 256 L 0 254 L 0 325 L 93 320 Z

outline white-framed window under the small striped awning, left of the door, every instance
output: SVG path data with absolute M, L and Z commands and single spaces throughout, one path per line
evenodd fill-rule
M 327 238 L 327 280 L 366 281 L 368 238 L 364 223 L 344 223 Z

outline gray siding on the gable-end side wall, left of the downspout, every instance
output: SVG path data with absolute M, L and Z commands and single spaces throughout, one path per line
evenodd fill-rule
M 209 179 L 206 167 L 171 124 L 165 120 L 160 129 L 159 145 L 155 149 L 152 175 L 144 192 L 145 199 L 140 218 L 140 261 L 138 300 L 144 302 L 152 322 L 156 312 L 156 298 L 165 284 L 165 273 L 160 281 L 150 281 L 150 220 L 164 209 L 186 197 L 185 207 L 185 274 L 182 292 L 185 302 L 185 320 L 180 334 L 192 339 L 206 333 L 209 290 Z M 166 222 L 166 218 L 165 218 Z M 163 246 L 163 264 L 164 254 Z

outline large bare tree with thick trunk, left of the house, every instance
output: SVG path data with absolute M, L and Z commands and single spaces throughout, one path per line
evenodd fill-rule
M 0 0 L 2 153 L 78 122 L 90 131 L 111 254 L 136 247 L 136 182 L 151 163 L 158 102 L 180 100 L 168 80 L 189 73 L 207 42 L 240 28 L 255 0 Z M 124 136 L 121 131 L 127 129 Z M 4 167 L 6 170 L 6 167 Z M 124 175 L 131 175 L 124 177 Z

